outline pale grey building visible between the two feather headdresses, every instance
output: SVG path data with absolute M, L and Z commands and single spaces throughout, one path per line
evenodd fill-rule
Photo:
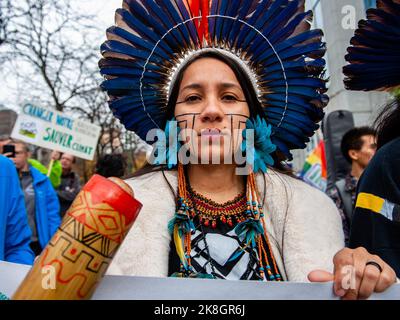
M 342 68 L 346 65 L 345 55 L 350 39 L 358 27 L 358 21 L 366 17 L 366 10 L 376 6 L 376 0 L 306 0 L 306 9 L 314 11 L 314 28 L 324 31 L 327 43 L 327 77 L 330 102 L 326 113 L 349 110 L 353 113 L 356 126 L 371 125 L 378 110 L 389 99 L 387 93 L 358 92 L 345 90 Z M 318 132 L 305 150 L 294 152 L 293 169 L 301 170 L 307 155 L 322 139 Z

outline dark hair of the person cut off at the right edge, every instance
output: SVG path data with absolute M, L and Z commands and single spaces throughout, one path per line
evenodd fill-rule
M 374 122 L 378 149 L 393 139 L 400 137 L 400 97 L 383 107 Z

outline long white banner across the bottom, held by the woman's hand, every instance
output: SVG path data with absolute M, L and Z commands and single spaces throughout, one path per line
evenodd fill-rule
M 11 297 L 30 266 L 0 261 L 0 292 Z M 105 276 L 92 300 L 338 300 L 332 283 Z M 246 294 L 243 294 L 243 293 Z M 371 300 L 399 300 L 400 284 Z

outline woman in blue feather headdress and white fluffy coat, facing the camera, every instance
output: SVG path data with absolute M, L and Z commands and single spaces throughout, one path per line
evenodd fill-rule
M 343 249 L 327 196 L 283 172 L 328 100 L 311 16 L 301 0 L 123 2 L 103 88 L 129 130 L 157 141 L 149 172 L 127 180 L 143 209 L 109 273 L 334 281 L 346 299 L 395 281 L 379 257 Z M 343 288 L 349 266 L 356 285 Z

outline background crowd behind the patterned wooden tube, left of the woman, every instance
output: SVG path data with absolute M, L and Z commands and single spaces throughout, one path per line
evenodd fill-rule
M 27 143 L 0 139 L 0 260 L 32 264 L 57 231 L 81 189 L 75 157 L 53 151 L 47 168 L 32 158 Z M 105 155 L 96 173 L 122 177 L 126 165 L 120 154 Z

